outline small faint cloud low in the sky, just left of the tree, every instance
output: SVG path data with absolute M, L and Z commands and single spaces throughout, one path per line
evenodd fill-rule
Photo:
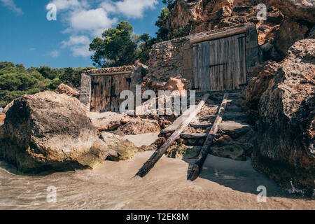
M 87 36 L 70 36 L 68 41 L 62 41 L 62 48 L 70 48 L 73 57 L 87 57 L 92 55 L 89 51 L 90 43 Z

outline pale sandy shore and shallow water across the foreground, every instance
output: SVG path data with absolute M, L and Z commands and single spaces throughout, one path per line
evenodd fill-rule
M 134 177 L 152 155 L 106 161 L 94 170 L 25 176 L 0 162 L 0 209 L 315 209 L 315 201 L 293 198 L 251 168 L 251 161 L 209 156 L 199 179 L 186 181 L 193 160 L 163 157 L 144 178 Z M 49 186 L 57 202 L 47 200 Z M 267 203 L 258 203 L 266 186 Z

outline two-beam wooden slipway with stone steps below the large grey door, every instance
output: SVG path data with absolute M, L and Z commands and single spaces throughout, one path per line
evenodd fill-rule
M 200 103 L 195 108 L 190 108 L 177 118 L 172 125 L 167 127 L 162 133 L 172 133 L 151 158 L 144 164 L 136 176 L 144 177 L 154 167 L 156 162 L 162 158 L 167 149 L 172 146 L 177 139 L 200 139 L 203 143 L 202 150 L 198 156 L 195 165 L 188 174 L 188 180 L 194 181 L 199 176 L 207 155 L 211 153 L 211 144 L 216 137 L 218 130 L 223 130 L 233 134 L 234 130 L 245 130 L 250 125 L 246 124 L 248 115 L 243 113 L 240 107 L 240 91 L 204 94 Z M 210 98 L 210 99 L 209 99 Z M 209 99 L 210 104 L 207 104 Z M 213 99 L 213 100 L 211 100 Z M 209 106 L 218 108 L 214 113 L 207 111 Z M 224 120 L 224 123 L 222 121 Z M 185 132 L 190 127 L 202 129 L 202 133 Z M 241 127 L 241 128 L 240 128 Z

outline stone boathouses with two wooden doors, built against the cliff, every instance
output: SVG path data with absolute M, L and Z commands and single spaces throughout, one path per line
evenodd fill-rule
M 120 92 L 135 90 L 143 76 L 161 83 L 181 76 L 196 92 L 237 90 L 261 61 L 255 25 L 193 34 L 153 45 L 146 73 L 137 66 L 85 71 L 80 101 L 90 111 L 118 112 Z

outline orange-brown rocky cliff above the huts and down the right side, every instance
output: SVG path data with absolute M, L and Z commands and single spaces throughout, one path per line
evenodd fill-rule
M 258 4 L 267 20 L 258 20 Z M 265 63 L 248 74 L 243 106 L 255 121 L 253 165 L 285 188 L 314 193 L 314 0 L 178 0 L 165 27 L 190 33 L 255 24 Z

